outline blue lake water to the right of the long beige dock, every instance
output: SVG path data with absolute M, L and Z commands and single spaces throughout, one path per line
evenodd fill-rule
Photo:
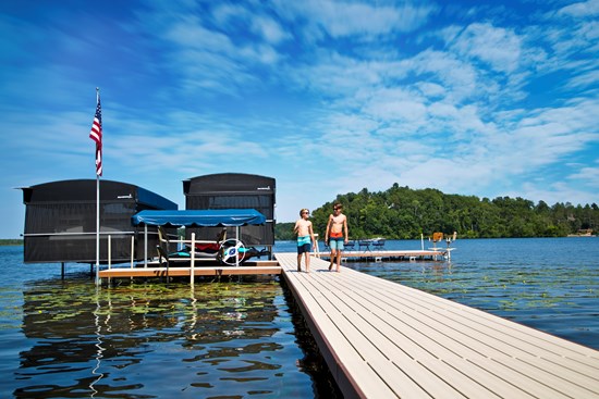
M 409 249 L 420 248 L 413 242 Z M 406 241 L 386 245 L 394 247 L 408 249 Z M 451 262 L 349 265 L 599 349 L 599 238 L 457 240 L 454 247 Z

